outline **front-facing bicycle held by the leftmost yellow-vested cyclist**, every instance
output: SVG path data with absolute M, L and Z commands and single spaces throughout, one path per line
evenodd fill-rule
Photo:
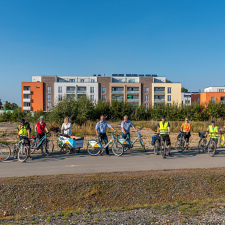
M 22 139 L 14 145 L 13 149 L 13 158 L 18 159 L 20 162 L 25 162 L 28 157 L 28 151 L 29 149 L 27 146 L 25 146 L 25 138 L 22 137 Z

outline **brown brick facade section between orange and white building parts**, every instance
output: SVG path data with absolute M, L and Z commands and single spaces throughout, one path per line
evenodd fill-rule
M 43 76 L 42 82 L 44 83 L 44 111 L 47 111 L 47 102 L 51 103 L 51 107 L 54 105 L 54 82 L 56 82 L 56 76 Z M 47 87 L 51 87 L 51 101 L 47 101 Z

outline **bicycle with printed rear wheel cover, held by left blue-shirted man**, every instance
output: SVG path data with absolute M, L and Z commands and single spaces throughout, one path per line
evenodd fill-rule
M 89 140 L 87 144 L 87 151 L 92 156 L 97 156 L 99 154 L 102 155 L 103 151 L 112 143 L 112 152 L 116 156 L 121 156 L 124 152 L 123 146 L 120 142 L 117 141 L 117 138 L 115 137 L 113 132 L 109 132 L 112 134 L 111 140 L 103 146 L 101 142 L 95 141 L 95 140 Z

